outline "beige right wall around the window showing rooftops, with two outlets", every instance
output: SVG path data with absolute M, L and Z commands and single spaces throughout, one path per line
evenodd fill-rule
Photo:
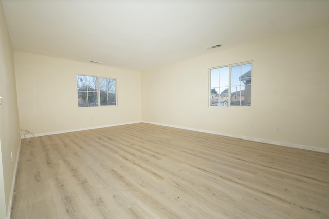
M 142 120 L 329 149 L 328 39 L 326 24 L 142 72 Z M 251 60 L 252 106 L 209 107 L 208 69 Z

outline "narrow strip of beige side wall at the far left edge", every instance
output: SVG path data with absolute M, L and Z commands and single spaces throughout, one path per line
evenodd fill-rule
M 20 146 L 13 50 L 0 2 L 0 218 L 6 218 Z M 11 153 L 13 160 L 11 160 Z

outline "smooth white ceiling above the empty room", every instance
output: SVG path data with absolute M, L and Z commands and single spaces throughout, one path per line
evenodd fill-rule
M 329 0 L 2 0 L 14 50 L 145 70 L 329 22 Z M 206 47 L 222 47 L 207 50 Z

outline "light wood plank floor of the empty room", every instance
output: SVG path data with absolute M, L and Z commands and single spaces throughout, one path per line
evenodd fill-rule
M 329 218 L 329 154 L 137 123 L 23 142 L 12 218 Z

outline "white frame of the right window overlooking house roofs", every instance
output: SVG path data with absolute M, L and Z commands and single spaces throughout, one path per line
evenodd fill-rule
M 234 67 L 234 66 L 240 66 L 240 65 L 245 65 L 245 64 L 251 64 L 251 78 L 252 78 L 252 72 L 253 72 L 253 61 L 246 61 L 246 62 L 241 62 L 241 63 L 234 63 L 234 64 L 229 64 L 229 65 L 223 65 L 223 66 L 217 66 L 217 67 L 212 67 L 212 68 L 209 68 L 209 87 L 208 87 L 208 94 L 209 94 L 209 102 L 208 102 L 208 106 L 209 107 L 216 107 L 214 105 L 211 105 L 211 70 L 212 69 L 217 69 L 217 68 L 223 68 L 223 67 L 229 67 L 229 86 L 228 86 L 228 103 L 224 103 L 224 107 L 251 107 L 251 104 L 252 104 L 252 82 L 250 85 L 247 85 L 247 86 L 250 86 L 250 105 L 231 105 L 231 68 Z M 251 79 L 252 81 L 252 79 Z M 220 99 L 220 93 L 218 93 L 218 100 Z M 226 106 L 227 105 L 227 106 Z M 219 102 L 218 102 L 218 106 L 219 105 Z M 221 107 L 220 107 L 221 108 Z

